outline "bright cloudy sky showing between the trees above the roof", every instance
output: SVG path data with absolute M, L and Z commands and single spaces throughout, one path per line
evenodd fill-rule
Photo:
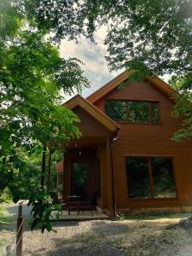
M 82 90 L 82 96 L 84 97 L 89 96 L 102 87 L 102 85 L 108 83 L 111 79 L 124 71 L 109 72 L 108 62 L 104 57 L 107 53 L 107 47 L 103 44 L 105 35 L 106 28 L 102 26 L 95 33 L 96 44 L 91 43 L 90 40 L 86 38 L 79 39 L 78 44 L 74 41 L 61 41 L 60 53 L 62 57 L 76 57 L 84 62 L 84 75 L 90 80 L 90 88 L 83 88 Z M 169 77 L 164 76 L 162 79 L 167 82 Z M 66 99 L 68 98 L 70 98 L 70 96 L 66 96 Z

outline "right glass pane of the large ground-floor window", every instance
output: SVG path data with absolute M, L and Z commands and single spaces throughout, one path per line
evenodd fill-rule
M 154 197 L 177 197 L 172 171 L 172 158 L 151 158 L 151 166 L 154 182 Z

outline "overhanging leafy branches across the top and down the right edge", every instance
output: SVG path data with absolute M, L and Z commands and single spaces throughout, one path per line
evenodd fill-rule
M 174 139 L 192 136 L 191 105 L 184 110 L 179 103 L 186 97 L 191 102 L 191 0 L 34 2 L 26 4 L 27 14 L 32 14 L 39 27 L 49 29 L 56 42 L 61 38 L 78 40 L 81 34 L 94 41 L 96 29 L 105 25 L 106 59 L 111 70 L 137 70 L 131 79 L 143 79 L 152 73 L 173 75 L 171 84 L 183 95 L 183 100 L 177 97 L 174 113 L 185 116 L 183 129 Z

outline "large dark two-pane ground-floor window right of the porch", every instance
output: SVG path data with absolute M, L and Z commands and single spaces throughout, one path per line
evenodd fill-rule
M 171 157 L 126 157 L 130 198 L 175 198 Z

